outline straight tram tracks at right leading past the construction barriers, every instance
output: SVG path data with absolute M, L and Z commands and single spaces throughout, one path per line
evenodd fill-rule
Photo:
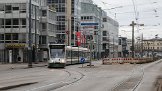
M 129 77 L 119 84 L 117 84 L 111 91 L 138 91 L 141 85 L 144 75 L 148 76 L 146 72 L 160 64 L 162 60 L 158 60 L 149 64 L 140 65 L 131 72 Z M 145 72 L 145 70 L 147 70 Z

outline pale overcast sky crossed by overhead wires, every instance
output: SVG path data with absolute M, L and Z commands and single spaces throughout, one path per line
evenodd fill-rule
M 135 28 L 135 37 L 162 38 L 162 0 L 93 0 L 95 4 L 108 13 L 108 16 L 119 22 L 119 35 L 131 38 L 132 21 L 145 26 Z M 135 9 L 133 6 L 135 4 Z M 115 8 L 116 7 L 116 8 Z M 114 9 L 115 8 L 115 9 Z M 136 15 L 134 10 L 137 12 Z M 138 18 L 136 21 L 135 18 Z

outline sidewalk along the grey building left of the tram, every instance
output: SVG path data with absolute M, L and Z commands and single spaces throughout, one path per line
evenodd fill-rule
M 45 67 L 47 62 L 39 62 L 37 64 L 32 63 L 32 67 Z M 10 70 L 10 69 L 27 69 L 28 63 L 15 63 L 15 64 L 0 64 L 0 71 Z

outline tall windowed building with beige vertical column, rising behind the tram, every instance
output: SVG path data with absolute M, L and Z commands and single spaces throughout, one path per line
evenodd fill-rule
M 47 3 L 56 8 L 57 43 L 75 46 L 75 33 L 80 21 L 80 0 L 47 0 Z

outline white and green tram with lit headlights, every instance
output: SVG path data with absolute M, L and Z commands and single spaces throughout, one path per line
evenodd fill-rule
M 90 50 L 83 47 L 72 47 L 64 44 L 49 45 L 48 67 L 65 67 L 71 64 L 80 64 L 80 59 L 90 60 Z

